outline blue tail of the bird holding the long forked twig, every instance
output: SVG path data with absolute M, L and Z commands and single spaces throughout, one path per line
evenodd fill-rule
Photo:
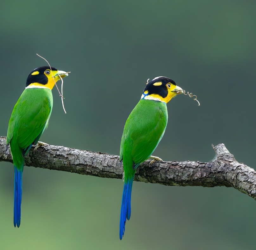
M 14 167 L 14 207 L 13 223 L 14 226 L 20 226 L 21 223 L 21 195 L 22 195 L 22 170 L 19 171 Z

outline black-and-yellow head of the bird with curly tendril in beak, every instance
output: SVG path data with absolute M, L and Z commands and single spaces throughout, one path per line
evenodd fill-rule
M 174 80 L 168 77 L 158 76 L 147 83 L 141 99 L 152 99 L 168 103 L 176 94 L 182 93 L 177 93 L 175 92 L 176 90 L 182 90 L 182 88 L 176 86 Z

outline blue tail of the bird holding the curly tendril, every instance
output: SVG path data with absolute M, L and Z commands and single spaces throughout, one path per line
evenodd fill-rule
M 125 182 L 123 197 L 122 197 L 122 205 L 121 205 L 121 213 L 120 213 L 120 227 L 119 227 L 119 238 L 122 240 L 125 233 L 125 222 L 131 217 L 131 188 L 132 188 L 133 178 L 128 182 Z

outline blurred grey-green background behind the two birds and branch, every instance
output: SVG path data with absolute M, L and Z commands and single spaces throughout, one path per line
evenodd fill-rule
M 31 70 L 46 65 L 56 88 L 41 140 L 119 154 L 125 121 L 148 78 L 168 76 L 197 95 L 168 103 L 154 155 L 209 161 L 225 143 L 255 165 L 256 2 L 230 0 L 2 1 L 0 135 Z M 60 86 L 60 83 L 58 82 Z M 123 182 L 24 167 L 22 217 L 13 226 L 13 165 L 0 162 L 1 249 L 254 249 L 256 202 L 227 187 L 133 184 L 119 240 Z

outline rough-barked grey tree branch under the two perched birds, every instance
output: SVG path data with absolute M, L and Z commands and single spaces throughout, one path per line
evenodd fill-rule
M 6 138 L 0 137 L 0 161 L 12 162 L 10 147 L 5 151 L 5 146 Z M 52 145 L 34 148 L 25 157 L 26 166 L 122 179 L 123 167 L 117 155 Z M 256 172 L 238 163 L 223 143 L 213 149 L 216 156 L 207 163 L 157 161 L 149 165 L 147 160 L 140 164 L 134 180 L 167 186 L 234 187 L 256 199 Z

